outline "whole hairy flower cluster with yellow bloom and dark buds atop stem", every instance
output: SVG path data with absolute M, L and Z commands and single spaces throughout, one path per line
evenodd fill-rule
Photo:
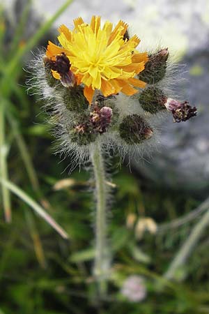
M 139 52 L 125 22 L 113 28 L 97 16 L 90 24 L 79 17 L 74 29 L 59 27 L 58 40 L 36 64 L 37 86 L 52 107 L 61 151 L 74 150 L 79 162 L 98 142 L 123 155 L 144 151 L 155 144 L 156 121 L 166 112 L 176 122 L 196 115 L 196 107 L 164 91 L 169 50 Z

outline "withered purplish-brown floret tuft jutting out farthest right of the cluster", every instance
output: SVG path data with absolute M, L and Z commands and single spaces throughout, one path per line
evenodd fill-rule
M 172 112 L 174 122 L 187 121 L 196 116 L 196 107 L 190 106 L 187 101 L 180 103 L 178 100 L 168 98 L 164 105 Z

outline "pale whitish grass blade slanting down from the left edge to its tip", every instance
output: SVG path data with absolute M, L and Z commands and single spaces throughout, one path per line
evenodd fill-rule
M 24 192 L 24 190 L 22 190 L 21 188 L 19 188 L 12 182 L 6 181 L 2 178 L 0 178 L 0 183 L 3 186 L 6 186 L 15 195 L 20 197 L 20 199 L 23 200 L 26 204 L 28 204 L 29 207 L 31 207 L 31 209 L 36 211 L 36 214 L 38 214 L 49 225 L 51 225 L 54 228 L 54 230 L 56 230 L 56 232 L 58 232 L 61 235 L 61 237 L 63 237 L 64 239 L 68 239 L 68 234 L 63 230 L 63 228 L 60 225 L 58 225 L 56 221 L 54 220 L 54 218 L 52 218 L 49 214 L 47 214 L 47 212 L 42 207 L 40 207 L 40 205 L 37 202 L 35 202 L 29 195 L 27 195 Z

